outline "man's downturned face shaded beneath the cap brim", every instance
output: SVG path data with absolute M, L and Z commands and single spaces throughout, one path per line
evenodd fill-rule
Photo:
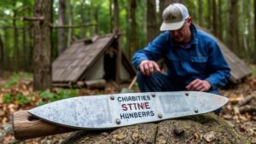
M 191 24 L 191 18 L 184 22 L 184 25 L 175 31 L 169 31 L 172 38 L 177 42 L 189 42 L 191 39 L 191 32 L 189 26 Z

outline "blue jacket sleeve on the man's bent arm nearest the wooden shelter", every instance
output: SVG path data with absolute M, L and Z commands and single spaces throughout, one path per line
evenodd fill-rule
M 139 70 L 139 65 L 142 60 L 160 60 L 166 48 L 168 38 L 170 38 L 169 33 L 163 32 L 158 37 L 155 37 L 151 43 L 148 43 L 148 46 L 144 49 L 137 50 L 132 57 L 133 66 Z

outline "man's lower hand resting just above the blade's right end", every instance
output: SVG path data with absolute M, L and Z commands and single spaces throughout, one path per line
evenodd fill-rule
M 186 89 L 192 91 L 208 91 L 211 88 L 211 84 L 207 80 L 195 79 L 189 85 L 186 86 Z

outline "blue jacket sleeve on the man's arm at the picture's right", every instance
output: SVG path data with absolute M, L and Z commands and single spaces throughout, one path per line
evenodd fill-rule
M 211 89 L 224 86 L 230 78 L 230 66 L 228 66 L 216 42 L 210 44 L 207 73 L 208 78 L 206 80 L 212 84 Z

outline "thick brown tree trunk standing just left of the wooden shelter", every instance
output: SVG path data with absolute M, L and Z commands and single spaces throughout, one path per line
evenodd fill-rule
M 49 89 L 51 87 L 50 9 L 51 0 L 35 1 L 35 16 L 44 17 L 44 20 L 34 22 L 34 90 Z

